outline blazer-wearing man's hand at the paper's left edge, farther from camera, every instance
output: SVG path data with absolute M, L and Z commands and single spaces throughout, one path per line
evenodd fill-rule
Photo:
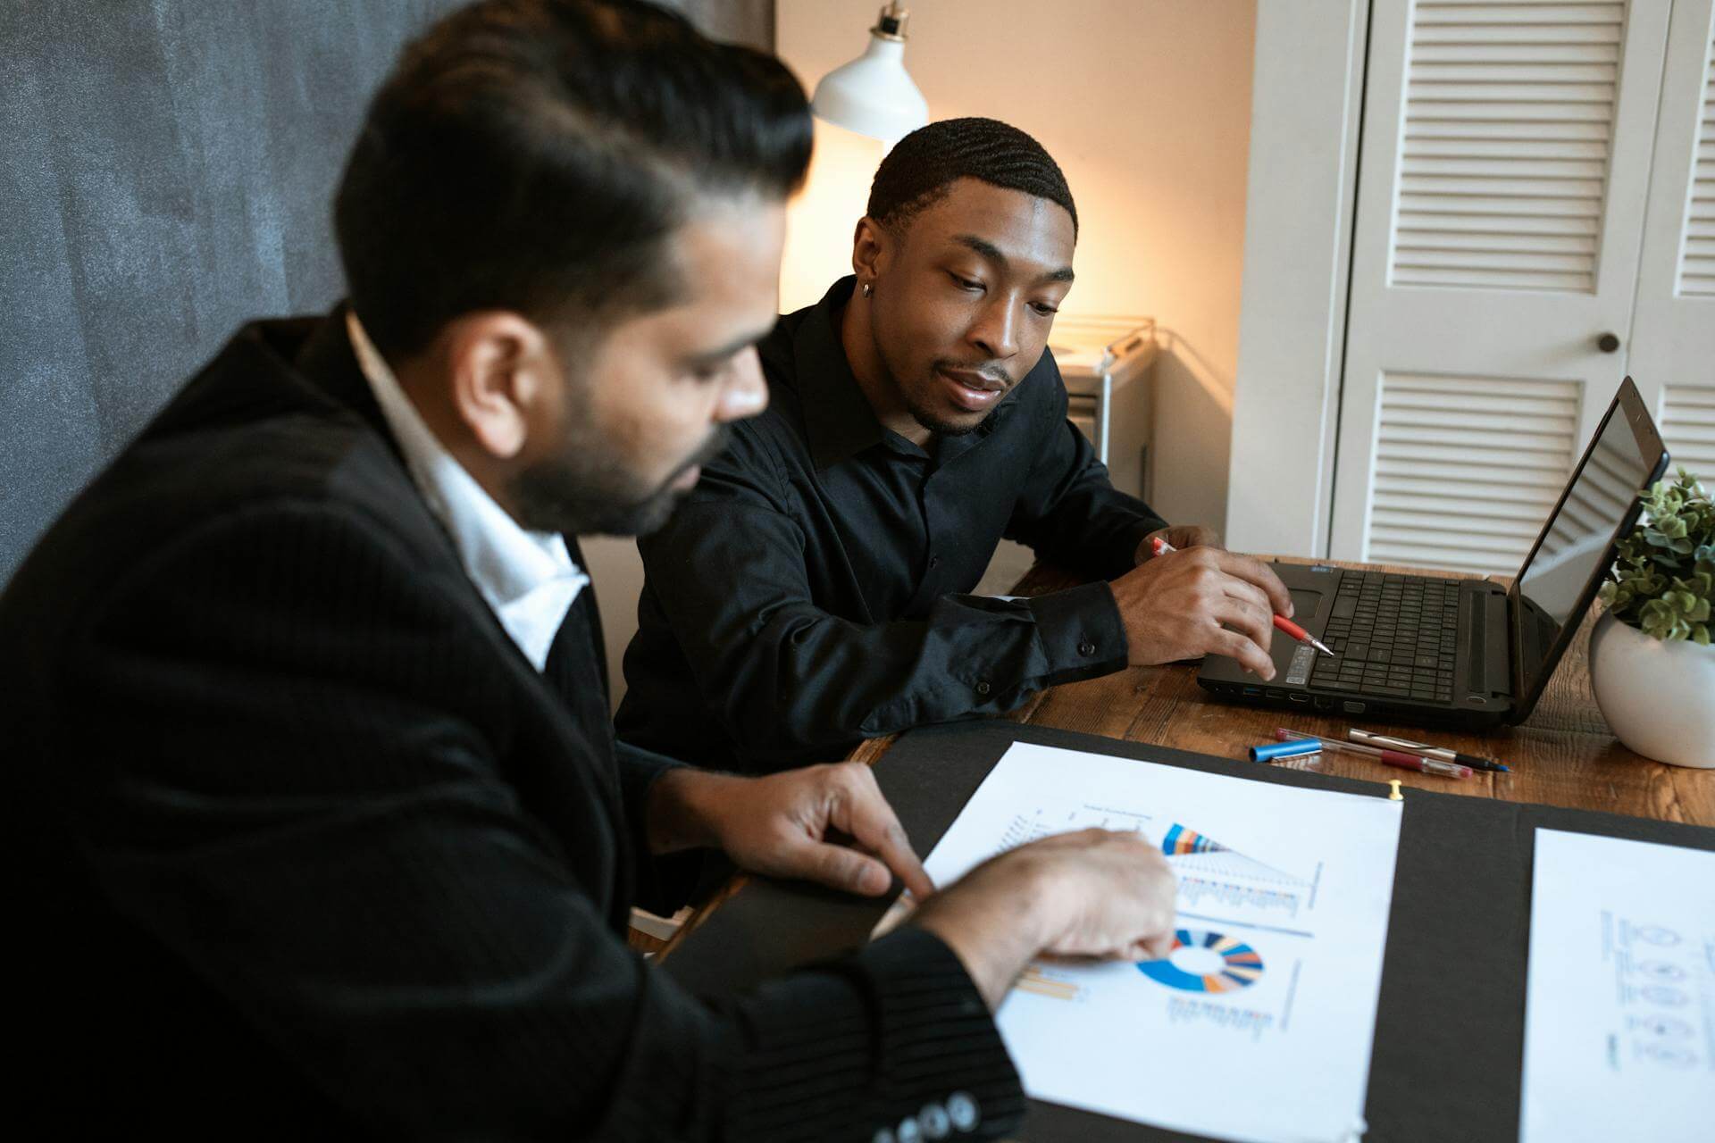
M 918 900 L 935 891 L 894 807 L 861 763 L 767 778 L 669 771 L 650 790 L 650 841 L 657 853 L 712 845 L 741 869 L 864 896 L 887 893 L 895 874 Z

